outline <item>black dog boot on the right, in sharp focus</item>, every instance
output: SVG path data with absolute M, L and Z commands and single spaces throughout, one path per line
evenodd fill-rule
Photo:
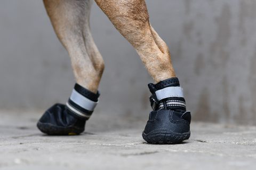
M 142 133 L 152 144 L 180 143 L 190 137 L 190 111 L 186 111 L 183 89 L 177 77 L 148 84 L 153 111 Z

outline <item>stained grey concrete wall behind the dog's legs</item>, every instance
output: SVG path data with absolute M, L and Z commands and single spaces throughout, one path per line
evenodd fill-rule
M 194 120 L 256 124 L 256 2 L 146 3 L 151 25 L 170 48 Z M 0 30 L 0 108 L 65 103 L 75 79 L 42 1 L 2 1 Z M 95 114 L 147 117 L 147 84 L 153 80 L 95 3 L 91 30 L 106 64 Z

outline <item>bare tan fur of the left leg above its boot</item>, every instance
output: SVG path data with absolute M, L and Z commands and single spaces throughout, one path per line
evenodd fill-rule
M 76 82 L 97 93 L 104 62 L 93 42 L 89 17 L 91 0 L 44 0 L 60 42 L 67 49 Z

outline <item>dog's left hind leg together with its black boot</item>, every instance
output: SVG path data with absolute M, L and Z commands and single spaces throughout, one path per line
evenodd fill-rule
M 60 42 L 69 53 L 77 84 L 66 103 L 55 104 L 38 121 L 47 134 L 79 134 L 98 103 L 104 62 L 90 32 L 92 0 L 44 0 Z

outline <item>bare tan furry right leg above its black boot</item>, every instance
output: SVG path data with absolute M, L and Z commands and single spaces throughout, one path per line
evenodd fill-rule
M 138 52 L 155 83 L 175 77 L 169 49 L 151 27 L 144 1 L 95 0 L 95 2 Z

